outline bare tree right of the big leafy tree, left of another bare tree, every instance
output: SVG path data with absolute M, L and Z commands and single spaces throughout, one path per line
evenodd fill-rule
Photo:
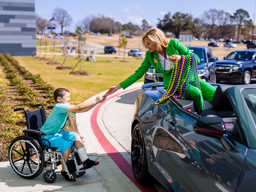
M 203 13 L 201 20 L 203 21 L 204 30 L 209 34 L 210 38 L 212 38 L 217 32 L 215 27 L 218 16 L 218 11 L 216 9 L 210 9 Z

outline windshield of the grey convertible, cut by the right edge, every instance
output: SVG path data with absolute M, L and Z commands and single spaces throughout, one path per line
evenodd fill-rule
M 244 89 L 242 90 L 242 95 L 256 124 L 256 89 Z

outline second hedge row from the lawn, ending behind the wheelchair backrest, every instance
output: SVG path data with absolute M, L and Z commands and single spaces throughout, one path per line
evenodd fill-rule
M 18 93 L 22 96 L 22 101 L 24 102 L 24 104 L 30 106 L 33 105 L 35 101 L 41 102 L 39 100 L 36 100 L 37 92 L 30 89 L 27 84 L 22 82 L 22 79 L 14 70 L 12 64 L 7 58 L 4 57 L 3 54 L 0 54 L 0 62 L 8 72 L 6 78 L 10 80 L 11 84 L 18 88 Z

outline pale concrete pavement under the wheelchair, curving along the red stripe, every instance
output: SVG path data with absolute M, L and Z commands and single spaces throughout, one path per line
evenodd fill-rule
M 35 179 L 27 180 L 18 176 L 9 162 L 0 163 L 0 188 L 3 191 L 27 192 L 27 191 L 141 191 L 117 166 L 116 162 L 109 157 L 111 151 L 105 151 L 101 146 L 99 138 L 92 130 L 91 122 L 94 110 L 97 110 L 97 124 L 103 132 L 104 137 L 115 148 L 115 153 L 120 153 L 123 158 L 131 164 L 131 120 L 134 111 L 134 100 L 143 82 L 135 83 L 127 89 L 120 89 L 102 103 L 86 113 L 76 114 L 78 131 L 84 142 L 86 151 L 92 160 L 98 160 L 99 165 L 86 170 L 86 173 L 75 182 L 66 181 L 61 175 L 61 166 L 55 171 L 57 179 L 54 183 L 44 182 L 44 171 Z M 127 91 L 128 90 L 128 91 Z M 130 91 L 129 91 L 130 90 Z M 99 93 L 86 101 L 95 99 Z M 113 95 L 114 95 L 113 94 Z M 133 100 L 133 101 L 132 101 Z M 106 148 L 105 148 L 106 149 Z M 113 152 L 114 153 L 114 152 Z M 113 154 L 112 154 L 113 156 Z M 132 171 L 131 171 L 132 172 Z M 156 186 L 156 188 L 158 188 Z M 159 189 L 161 191 L 161 189 Z M 159 191 L 158 190 L 158 191 Z

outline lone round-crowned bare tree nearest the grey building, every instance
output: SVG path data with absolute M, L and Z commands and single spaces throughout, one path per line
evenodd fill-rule
M 61 27 L 61 33 L 63 33 L 64 27 L 68 27 L 72 23 L 72 18 L 68 12 L 61 8 L 55 8 L 53 10 L 52 17 L 54 18 L 54 21 L 59 23 Z

